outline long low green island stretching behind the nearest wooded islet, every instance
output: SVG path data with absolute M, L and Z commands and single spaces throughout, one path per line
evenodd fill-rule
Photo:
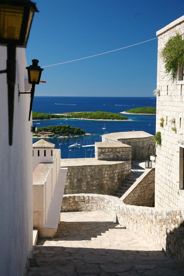
M 105 112 L 105 111 L 91 111 L 91 112 L 73 112 L 64 114 L 48 114 L 48 113 L 32 113 L 33 120 L 49 120 L 59 118 L 74 118 L 74 119 L 90 119 L 90 120 L 129 120 L 127 117 L 122 116 L 118 113 Z

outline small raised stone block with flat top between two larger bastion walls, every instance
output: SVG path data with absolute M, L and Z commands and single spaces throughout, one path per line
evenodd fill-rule
M 126 161 L 132 159 L 132 148 L 120 143 L 95 143 L 95 158 L 98 160 Z

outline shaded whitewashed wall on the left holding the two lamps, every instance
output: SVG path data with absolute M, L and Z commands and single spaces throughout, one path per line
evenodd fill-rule
M 23 275 L 33 245 L 32 117 L 25 91 L 25 50 L 17 48 L 13 144 L 8 141 L 6 74 L 0 74 L 0 274 Z M 6 69 L 6 47 L 0 46 L 0 70 Z

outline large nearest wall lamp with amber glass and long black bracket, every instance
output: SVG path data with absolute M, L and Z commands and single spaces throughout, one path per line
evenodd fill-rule
M 13 136 L 14 86 L 16 75 L 16 47 L 26 47 L 36 4 L 29 0 L 0 1 L 0 44 L 7 46 L 6 69 L 8 84 L 9 145 Z

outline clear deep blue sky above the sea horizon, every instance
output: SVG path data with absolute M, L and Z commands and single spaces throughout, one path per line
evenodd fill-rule
M 38 0 L 26 48 L 40 66 L 107 52 L 156 37 L 183 15 L 183 0 Z M 35 96 L 145 96 L 156 88 L 157 39 L 46 67 Z

